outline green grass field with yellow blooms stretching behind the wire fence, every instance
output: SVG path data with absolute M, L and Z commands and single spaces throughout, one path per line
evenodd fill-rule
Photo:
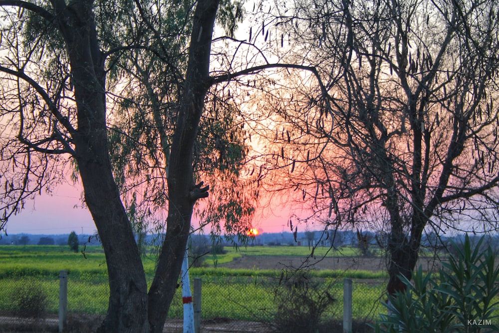
M 306 256 L 306 247 L 262 247 L 241 248 L 240 251 L 226 248 L 227 254 L 217 256 L 219 263 L 235 257 L 246 256 Z M 347 251 L 347 250 L 346 250 Z M 324 253 L 316 252 L 317 255 Z M 85 259 L 86 257 L 86 259 Z M 87 247 L 85 257 L 70 252 L 66 246 L 0 246 L 0 312 L 11 312 L 12 295 L 25 286 L 39 286 L 47 296 L 47 310 L 57 313 L 58 274 L 68 270 L 68 309 L 73 313 L 104 315 L 107 310 L 109 287 L 105 257 L 100 247 Z M 192 268 L 191 279 L 203 281 L 202 317 L 227 317 L 242 320 L 271 320 L 277 309 L 275 291 L 280 270 L 227 269 L 215 267 L 213 260 L 208 267 Z M 148 282 L 154 276 L 154 258 L 144 259 Z M 349 274 L 350 273 L 350 274 Z M 342 314 L 342 279 L 371 279 L 372 283 L 355 283 L 354 317 L 364 318 L 379 304 L 385 286 L 386 275 L 380 272 L 312 271 L 318 281 L 328 282 L 328 290 L 334 295 L 334 316 Z M 334 281 L 331 284 L 331 281 Z M 24 288 L 25 289 L 25 288 Z M 28 288 L 29 289 L 29 288 Z M 182 301 L 179 292 L 172 303 L 170 317 L 182 317 Z M 356 301 L 357 300 L 357 301 Z M 333 315 L 333 314 L 331 314 Z

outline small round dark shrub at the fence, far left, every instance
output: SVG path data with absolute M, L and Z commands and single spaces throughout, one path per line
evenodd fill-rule
M 47 312 L 47 295 L 39 284 L 24 284 L 16 288 L 11 300 L 15 316 L 41 319 Z

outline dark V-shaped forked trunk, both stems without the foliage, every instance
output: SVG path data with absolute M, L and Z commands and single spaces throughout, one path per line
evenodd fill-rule
M 199 0 L 194 14 L 187 76 L 170 154 L 167 234 L 149 294 L 132 228 L 112 174 L 106 127 L 105 56 L 99 47 L 93 2 L 66 4 L 64 0 L 52 0 L 53 12 L 48 12 L 30 2 L 12 1 L 55 24 L 67 49 L 77 128 L 73 129 L 67 118 L 59 115 L 59 119 L 69 124 L 73 157 L 109 274 L 109 307 L 99 332 L 162 332 L 180 275 L 194 203 L 208 196 L 208 187 L 194 184 L 192 163 L 204 99 L 211 85 L 210 50 L 219 0 Z

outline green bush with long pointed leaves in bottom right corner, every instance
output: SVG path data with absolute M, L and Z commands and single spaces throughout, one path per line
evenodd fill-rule
M 390 297 L 376 333 L 499 332 L 499 267 L 492 248 L 484 251 L 482 242 L 472 248 L 466 236 L 461 246 L 453 244 L 438 277 L 424 276 L 421 267 L 413 284 L 402 277 L 407 290 Z

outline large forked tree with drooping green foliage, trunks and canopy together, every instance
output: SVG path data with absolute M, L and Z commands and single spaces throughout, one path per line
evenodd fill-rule
M 210 72 L 216 19 L 230 36 L 241 18 L 238 2 L 0 6 L 1 228 L 26 198 L 50 191 L 70 171 L 106 254 L 110 299 L 100 331 L 161 332 L 197 201 L 215 189 L 199 213 L 215 222 L 214 232 L 225 222 L 227 232 L 246 235 L 253 213 L 257 192 L 250 177 L 239 178 L 247 134 L 225 82 L 274 66 L 313 68 L 252 67 L 215 52 L 221 65 Z M 165 215 L 147 290 L 134 233 Z

